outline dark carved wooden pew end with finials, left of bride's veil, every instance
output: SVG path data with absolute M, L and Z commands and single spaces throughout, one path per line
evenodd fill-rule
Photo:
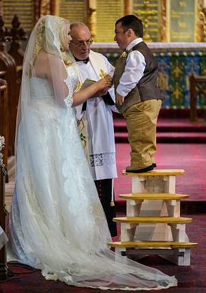
M 23 71 L 24 52 L 20 48 L 20 40 L 26 40 L 26 32 L 20 28 L 18 16 L 14 16 L 12 29 L 3 27 L 0 18 L 0 71 L 5 71 L 8 84 L 8 156 L 14 155 L 14 141 L 16 133 L 16 114 Z M 5 46 L 5 43 L 8 46 Z

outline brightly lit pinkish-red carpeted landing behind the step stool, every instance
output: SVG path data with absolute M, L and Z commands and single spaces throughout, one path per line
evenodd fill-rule
M 116 144 L 117 173 L 115 199 L 118 194 L 132 192 L 131 179 L 121 174 L 130 164 L 130 144 Z M 189 194 L 185 201 L 206 201 L 206 144 L 158 144 L 157 168 L 183 169 L 185 175 L 176 177 L 176 192 Z

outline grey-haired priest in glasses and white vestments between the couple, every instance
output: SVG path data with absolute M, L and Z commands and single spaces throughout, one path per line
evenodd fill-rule
M 84 23 L 72 23 L 70 30 L 72 40 L 66 58 L 78 73 L 80 88 L 85 79 L 97 81 L 112 71 L 113 66 L 102 54 L 91 51 L 93 41 Z M 113 182 L 117 177 L 117 167 L 112 111 L 117 112 L 117 109 L 113 88 L 109 92 L 110 95 L 106 96 L 106 92 L 100 92 L 99 97 L 76 107 L 76 116 L 91 175 L 113 237 L 117 235 L 117 224 L 113 222 L 116 216 Z

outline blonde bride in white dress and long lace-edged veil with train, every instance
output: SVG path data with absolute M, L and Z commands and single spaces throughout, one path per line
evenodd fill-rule
M 42 270 L 79 287 L 159 290 L 175 277 L 115 259 L 106 218 L 76 127 L 75 106 L 111 86 L 106 77 L 75 92 L 65 67 L 70 23 L 46 15 L 35 25 L 23 63 L 16 126 L 16 186 L 10 212 L 8 262 Z

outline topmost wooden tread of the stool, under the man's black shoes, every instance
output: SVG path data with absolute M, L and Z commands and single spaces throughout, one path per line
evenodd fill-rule
M 182 169 L 156 169 L 145 173 L 130 173 L 126 170 L 122 171 L 123 175 L 126 176 L 170 176 L 170 175 L 183 175 L 185 170 Z

